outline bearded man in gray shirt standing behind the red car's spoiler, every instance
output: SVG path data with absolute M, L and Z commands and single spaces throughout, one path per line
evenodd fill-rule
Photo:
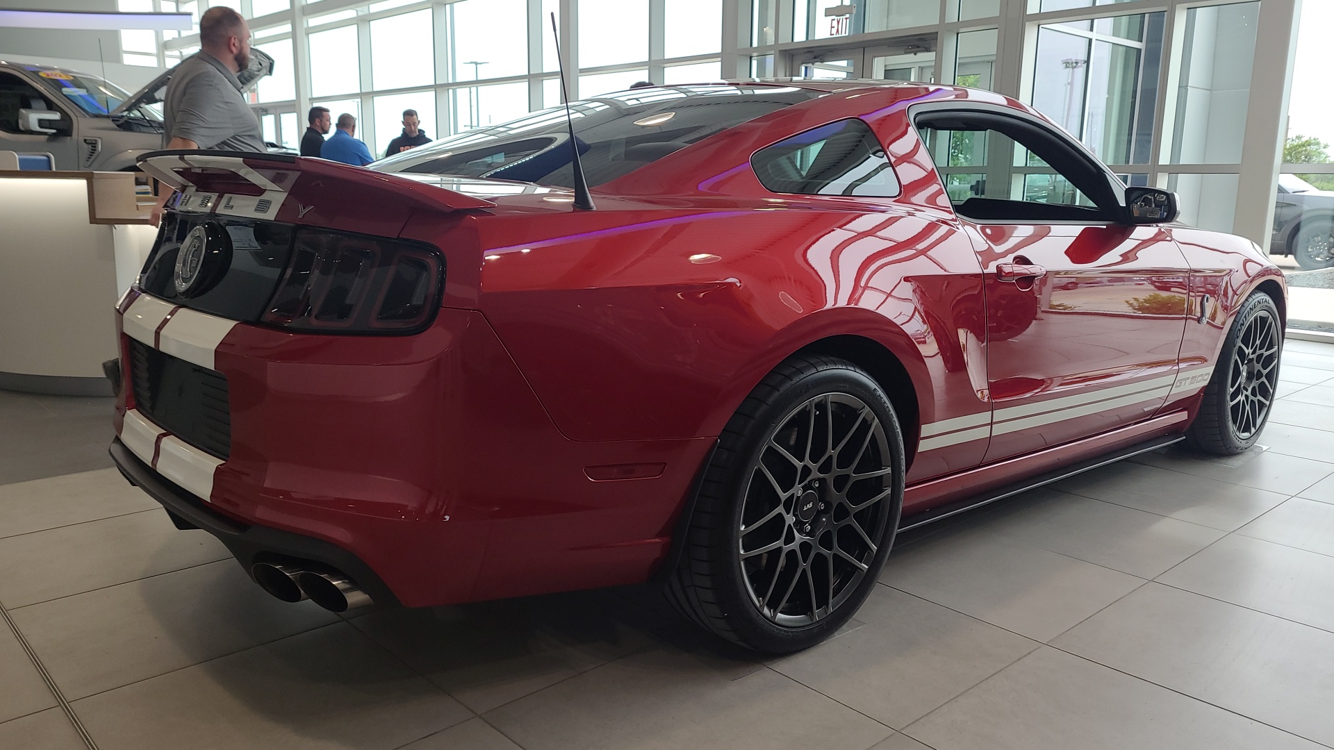
M 263 153 L 259 120 L 236 73 L 249 63 L 249 27 L 217 5 L 199 19 L 200 51 L 176 65 L 163 97 L 167 148 Z

